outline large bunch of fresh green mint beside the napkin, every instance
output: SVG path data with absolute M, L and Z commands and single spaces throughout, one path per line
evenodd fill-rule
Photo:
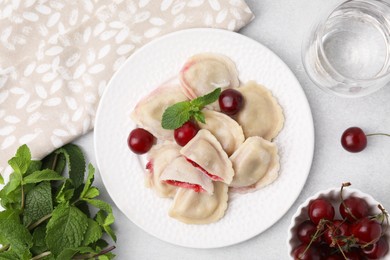
M 0 190 L 5 209 L 0 212 L 0 260 L 115 257 L 115 246 L 102 239 L 106 233 L 116 241 L 112 208 L 96 198 L 91 164 L 84 182 L 85 159 L 78 146 L 65 145 L 35 161 L 23 145 L 8 163 L 14 172 Z M 93 218 L 88 205 L 98 209 Z

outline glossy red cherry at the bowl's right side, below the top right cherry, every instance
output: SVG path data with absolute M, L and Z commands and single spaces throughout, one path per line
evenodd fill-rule
M 364 217 L 351 226 L 351 233 L 359 244 L 375 243 L 382 234 L 382 226 L 375 220 Z

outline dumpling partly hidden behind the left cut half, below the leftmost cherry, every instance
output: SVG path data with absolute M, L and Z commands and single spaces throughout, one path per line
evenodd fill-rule
M 174 142 L 164 142 L 153 146 L 148 153 L 145 186 L 153 189 L 162 198 L 173 198 L 175 196 L 177 187 L 160 181 L 160 176 L 174 159 L 181 156 L 180 148 Z

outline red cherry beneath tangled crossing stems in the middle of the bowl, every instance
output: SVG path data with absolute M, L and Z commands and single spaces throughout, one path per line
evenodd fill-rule
M 342 220 L 334 220 L 325 227 L 327 228 L 323 234 L 324 241 L 333 247 L 344 246 L 346 244 L 344 238 L 351 235 L 348 224 Z

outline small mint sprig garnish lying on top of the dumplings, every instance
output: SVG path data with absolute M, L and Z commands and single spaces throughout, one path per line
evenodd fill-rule
M 182 101 L 168 107 L 163 113 L 161 126 L 164 129 L 176 129 L 191 118 L 206 123 L 202 109 L 218 100 L 220 94 L 221 88 L 217 88 L 204 96 L 191 101 Z

